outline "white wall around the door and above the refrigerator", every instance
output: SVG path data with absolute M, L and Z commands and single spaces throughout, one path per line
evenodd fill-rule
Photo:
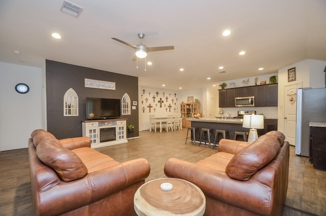
M 307 59 L 279 69 L 279 106 L 278 130 L 284 132 L 284 87 L 289 84 L 302 83 L 303 88 L 324 88 L 326 62 Z M 288 82 L 287 70 L 295 67 L 296 80 Z

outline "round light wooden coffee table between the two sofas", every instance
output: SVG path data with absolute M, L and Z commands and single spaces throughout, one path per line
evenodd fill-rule
M 172 190 L 161 189 L 171 183 Z M 203 215 L 206 207 L 204 193 L 195 184 L 178 178 L 159 178 L 140 186 L 134 195 L 134 210 L 141 215 Z

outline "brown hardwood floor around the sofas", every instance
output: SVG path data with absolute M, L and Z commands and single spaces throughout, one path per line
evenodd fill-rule
M 151 165 L 149 181 L 166 177 L 163 168 L 170 157 L 196 162 L 218 151 L 189 142 L 185 145 L 185 137 L 185 128 L 162 133 L 141 131 L 139 139 L 97 150 L 119 162 L 146 158 Z M 326 215 L 326 172 L 315 170 L 308 157 L 295 155 L 293 146 L 289 166 L 283 215 Z M 0 215 L 33 215 L 29 172 L 28 149 L 0 152 Z

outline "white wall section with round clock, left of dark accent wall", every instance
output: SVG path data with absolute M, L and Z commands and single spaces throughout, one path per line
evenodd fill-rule
M 42 68 L 0 62 L 0 151 L 28 147 L 31 132 L 45 129 Z M 15 86 L 25 83 L 27 94 Z

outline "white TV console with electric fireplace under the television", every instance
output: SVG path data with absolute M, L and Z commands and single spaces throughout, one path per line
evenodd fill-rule
M 89 137 L 92 148 L 127 143 L 127 119 L 86 120 L 83 136 Z

